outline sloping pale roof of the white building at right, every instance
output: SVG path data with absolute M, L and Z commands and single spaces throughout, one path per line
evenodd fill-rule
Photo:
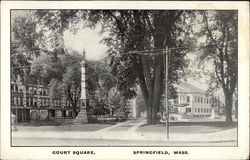
M 205 91 L 202 89 L 199 89 L 187 82 L 181 82 L 177 86 L 177 92 L 184 92 L 184 93 L 202 93 L 205 94 Z

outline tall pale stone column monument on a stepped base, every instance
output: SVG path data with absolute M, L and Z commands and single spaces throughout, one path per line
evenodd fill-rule
M 81 98 L 80 98 L 80 112 L 76 117 L 76 122 L 88 123 L 85 50 L 83 50 L 83 60 L 81 61 L 80 65 L 81 65 Z

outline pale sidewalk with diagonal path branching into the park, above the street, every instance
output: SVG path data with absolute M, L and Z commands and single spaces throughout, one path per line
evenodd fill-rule
M 143 141 L 165 141 L 165 133 L 138 132 L 136 128 L 143 125 L 145 120 L 138 122 L 128 121 L 108 128 L 93 132 L 13 132 L 13 138 L 55 138 L 55 139 L 110 139 L 110 140 L 143 140 Z M 114 128 L 126 127 L 126 130 L 113 130 Z M 213 133 L 171 133 L 168 141 L 190 142 L 190 143 L 216 143 L 216 142 L 236 142 L 237 128 L 223 130 Z

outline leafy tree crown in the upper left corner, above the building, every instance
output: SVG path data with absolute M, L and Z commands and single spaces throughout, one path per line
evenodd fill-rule
M 18 16 L 21 12 L 24 16 Z M 16 79 L 17 75 L 28 76 L 30 73 L 30 61 L 38 56 L 39 45 L 37 37 L 40 36 L 36 30 L 34 15 L 31 12 L 11 12 L 11 78 Z

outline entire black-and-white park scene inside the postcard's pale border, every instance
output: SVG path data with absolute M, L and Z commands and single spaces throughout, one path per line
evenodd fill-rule
M 237 146 L 237 10 L 11 10 L 12 146 Z

